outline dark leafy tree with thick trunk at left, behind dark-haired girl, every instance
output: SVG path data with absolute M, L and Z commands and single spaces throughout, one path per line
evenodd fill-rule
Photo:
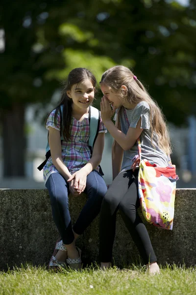
M 70 5 L 73 6 L 71 1 Z M 59 80 L 48 79 L 46 74 L 51 69 L 66 67 L 58 34 L 62 21 L 58 14 L 65 3 L 21 0 L 12 2 L 10 9 L 9 3 L 4 1 L 2 7 L 5 36 L 5 48 L 0 54 L 3 175 L 24 176 L 25 107 L 32 102 L 49 102 L 53 91 L 59 87 Z

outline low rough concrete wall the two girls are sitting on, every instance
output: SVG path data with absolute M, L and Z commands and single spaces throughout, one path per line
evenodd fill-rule
M 73 223 L 85 202 L 85 195 L 70 197 Z M 84 264 L 98 261 L 98 218 L 78 239 Z M 173 231 L 149 224 L 147 230 L 160 264 L 196 265 L 196 189 L 176 191 Z M 46 189 L 0 189 L 0 270 L 26 262 L 48 264 L 57 237 Z M 120 214 L 113 255 L 120 267 L 139 258 Z

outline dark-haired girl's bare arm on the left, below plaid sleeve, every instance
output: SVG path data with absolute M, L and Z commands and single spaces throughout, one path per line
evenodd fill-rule
M 49 147 L 51 151 L 52 163 L 58 172 L 66 180 L 68 180 L 72 175 L 62 159 L 60 132 L 52 127 L 49 127 Z

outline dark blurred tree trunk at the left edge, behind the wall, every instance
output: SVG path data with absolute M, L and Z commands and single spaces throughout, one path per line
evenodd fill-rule
M 3 176 L 25 176 L 25 106 L 13 105 L 2 116 Z

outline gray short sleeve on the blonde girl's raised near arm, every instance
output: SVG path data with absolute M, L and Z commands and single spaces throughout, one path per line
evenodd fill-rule
M 133 112 L 130 127 L 136 128 L 139 119 L 142 118 L 141 128 L 149 130 L 150 128 L 150 108 L 146 102 L 139 103 Z

